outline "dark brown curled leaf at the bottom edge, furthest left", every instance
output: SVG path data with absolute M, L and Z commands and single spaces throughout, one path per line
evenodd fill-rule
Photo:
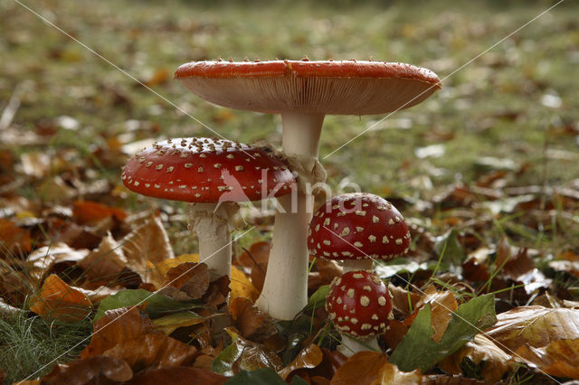
M 97 355 L 67 364 L 58 364 L 43 377 L 44 384 L 85 385 L 88 383 L 124 382 L 133 377 L 127 362 Z

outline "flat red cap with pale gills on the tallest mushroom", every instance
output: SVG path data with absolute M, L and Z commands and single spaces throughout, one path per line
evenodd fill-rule
M 175 78 L 212 103 L 261 112 L 383 114 L 441 89 L 432 70 L 384 61 L 192 61 Z

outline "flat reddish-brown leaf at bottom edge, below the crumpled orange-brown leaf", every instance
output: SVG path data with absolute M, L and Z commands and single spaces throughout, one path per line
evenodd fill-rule
M 227 377 L 215 374 L 211 369 L 177 367 L 140 371 L 128 383 L 138 385 L 221 385 L 226 380 L 228 380 Z

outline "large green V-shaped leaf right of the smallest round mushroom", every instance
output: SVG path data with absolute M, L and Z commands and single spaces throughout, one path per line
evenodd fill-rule
M 431 306 L 427 304 L 418 312 L 388 362 L 395 363 L 402 371 L 413 371 L 416 368 L 422 372 L 429 371 L 437 362 L 471 341 L 480 330 L 496 322 L 494 296 L 488 294 L 475 297 L 452 313 L 441 343 L 436 343 L 431 339 L 434 330 L 431 325 Z

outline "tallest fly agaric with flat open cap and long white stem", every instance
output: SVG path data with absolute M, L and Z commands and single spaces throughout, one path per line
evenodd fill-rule
M 280 113 L 281 144 L 299 174 L 296 202 L 278 200 L 271 263 L 257 305 L 292 319 L 308 303 L 307 230 L 312 197 L 306 183 L 323 183 L 318 142 L 326 114 L 370 115 L 410 108 L 441 88 L 434 72 L 382 61 L 193 61 L 175 73 L 187 89 L 214 104 Z

